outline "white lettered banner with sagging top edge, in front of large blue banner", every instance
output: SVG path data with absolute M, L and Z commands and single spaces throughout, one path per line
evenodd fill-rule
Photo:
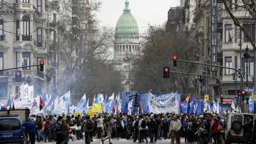
M 148 107 L 150 109 L 150 112 L 153 113 L 166 113 L 166 112 L 172 112 L 172 113 L 179 113 L 178 108 L 178 93 L 170 93 L 168 94 L 170 96 L 170 99 L 165 101 L 158 101 L 158 99 L 149 92 L 148 94 Z

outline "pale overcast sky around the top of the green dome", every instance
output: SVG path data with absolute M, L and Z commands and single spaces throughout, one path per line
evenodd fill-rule
M 98 19 L 101 26 L 116 27 L 118 18 L 124 10 L 125 0 L 102 0 Z M 163 24 L 167 20 L 168 10 L 179 4 L 177 0 L 128 0 L 132 15 L 137 20 L 140 33 L 148 28 L 148 23 Z

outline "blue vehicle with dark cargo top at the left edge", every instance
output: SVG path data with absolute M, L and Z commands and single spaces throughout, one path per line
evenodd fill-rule
M 20 115 L 12 115 L 14 110 L 9 110 L 7 115 L 2 115 L 4 111 L 0 111 L 0 144 L 28 144 L 28 135 L 22 126 L 22 122 L 27 121 L 28 110 L 16 110 Z

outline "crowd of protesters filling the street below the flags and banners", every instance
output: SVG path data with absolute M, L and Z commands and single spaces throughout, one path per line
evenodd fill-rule
M 84 140 L 87 144 L 88 134 L 90 142 L 94 138 L 101 139 L 102 144 L 108 139 L 127 139 L 138 143 L 156 143 L 157 140 L 171 139 L 171 144 L 176 140 L 180 144 L 180 138 L 184 137 L 185 143 L 195 142 L 194 134 L 198 128 L 204 128 L 209 134 L 208 142 L 221 144 L 222 136 L 218 126 L 226 127 L 228 114 L 98 114 L 89 115 L 49 115 L 42 117 L 32 115 L 29 122 L 23 124 L 26 127 L 31 144 L 37 142 L 56 142 L 56 144 L 68 144 L 75 137 Z M 254 121 L 255 122 L 255 121 Z M 256 125 L 255 125 L 256 126 Z M 256 128 L 244 126 L 246 132 L 255 137 Z M 75 140 L 76 140 L 75 139 Z M 254 140 L 253 140 L 254 141 Z

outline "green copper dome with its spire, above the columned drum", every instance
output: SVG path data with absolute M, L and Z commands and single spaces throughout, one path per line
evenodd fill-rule
M 129 9 L 129 2 L 126 0 L 123 14 L 116 23 L 116 37 L 139 37 L 137 21 Z

